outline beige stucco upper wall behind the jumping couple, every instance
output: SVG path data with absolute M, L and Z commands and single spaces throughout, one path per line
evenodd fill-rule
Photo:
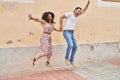
M 55 13 L 56 27 L 59 17 L 76 6 L 84 7 L 87 0 L 35 0 L 34 3 L 0 2 L 0 47 L 36 46 L 42 33 L 41 24 L 28 21 L 27 14 L 41 18 L 44 11 Z M 32 34 L 31 34 L 32 33 Z M 87 12 L 78 18 L 78 43 L 120 41 L 120 8 L 99 7 L 91 0 Z M 53 44 L 65 44 L 62 32 L 53 32 Z M 9 40 L 12 43 L 6 44 Z

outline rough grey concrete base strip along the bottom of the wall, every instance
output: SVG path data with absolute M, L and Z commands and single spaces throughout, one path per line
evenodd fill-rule
M 51 64 L 54 67 L 66 66 L 64 56 L 66 45 L 54 45 Z M 14 74 L 45 68 L 46 58 L 38 60 L 34 67 L 31 58 L 40 53 L 40 46 L 0 48 L 0 75 Z M 94 60 L 120 57 L 120 42 L 79 44 L 75 63 L 80 64 Z

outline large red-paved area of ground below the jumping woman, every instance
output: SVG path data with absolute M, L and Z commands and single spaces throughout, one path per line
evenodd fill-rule
M 85 80 L 64 68 L 45 69 L 0 77 L 0 80 Z

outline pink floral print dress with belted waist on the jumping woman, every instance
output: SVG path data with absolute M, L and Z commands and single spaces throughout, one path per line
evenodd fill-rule
M 51 41 L 51 33 L 53 31 L 52 26 L 43 27 L 43 34 L 40 38 L 41 43 L 41 56 L 52 55 L 53 48 L 52 48 L 52 41 Z

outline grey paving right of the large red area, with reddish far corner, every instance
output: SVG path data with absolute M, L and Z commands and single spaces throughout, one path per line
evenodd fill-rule
M 120 58 L 89 62 L 73 72 L 86 80 L 120 80 Z

